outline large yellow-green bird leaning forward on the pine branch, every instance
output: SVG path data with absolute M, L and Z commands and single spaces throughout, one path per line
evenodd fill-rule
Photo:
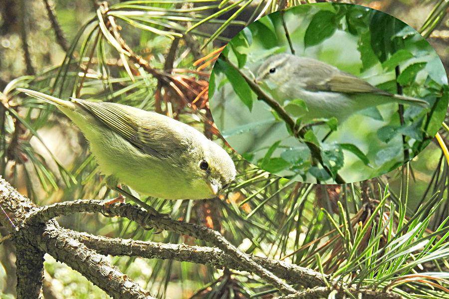
M 116 103 L 64 101 L 19 91 L 59 108 L 89 142 L 106 184 L 165 199 L 212 198 L 235 177 L 229 154 L 196 129 Z

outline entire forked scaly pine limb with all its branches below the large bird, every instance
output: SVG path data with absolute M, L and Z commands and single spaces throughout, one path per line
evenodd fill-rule
M 13 242 L 19 250 L 23 249 L 21 250 L 23 255 L 17 255 L 17 269 L 20 270 L 17 273 L 23 276 L 23 278 L 20 277 L 22 281 L 18 285 L 24 287 L 18 292 L 20 294 L 18 298 L 25 298 L 24 294 L 28 295 L 27 298 L 29 298 L 29 294 L 34 294 L 32 298 L 40 296 L 43 254 L 45 252 L 66 263 L 115 298 L 154 299 L 147 291 L 141 289 L 125 274 L 110 265 L 100 254 L 170 259 L 201 263 L 216 268 L 226 267 L 237 271 L 253 272 L 260 277 L 270 275 L 266 281 L 270 283 L 274 281 L 273 285 L 280 281 L 278 278 L 280 277 L 291 284 L 309 288 L 303 292 L 297 292 L 288 285 L 289 289 L 280 287 L 284 294 L 293 290 L 290 292 L 291 295 L 281 297 L 282 299 L 327 297 L 331 292 L 335 292 L 337 298 L 341 298 L 345 292 L 361 294 L 363 298 L 368 299 L 401 298 L 393 292 L 356 288 L 328 289 L 324 287 L 325 283 L 321 273 L 276 260 L 244 255 L 222 235 L 210 228 L 161 218 L 130 204 L 120 203 L 105 207 L 102 203 L 103 201 L 99 200 L 76 200 L 39 207 L 32 204 L 29 199 L 20 195 L 0 178 L 0 206 L 3 211 L 0 213 L 0 224 L 13 233 Z M 144 228 L 157 227 L 189 235 L 211 242 L 218 248 L 110 239 L 60 228 L 53 220 L 56 216 L 77 212 L 100 212 L 108 217 L 126 217 Z M 29 246 L 29 252 L 25 253 L 27 246 Z M 36 250 L 38 252 L 35 252 Z M 26 254 L 33 256 L 34 260 L 27 258 Z M 31 265 L 30 261 L 34 261 L 36 264 Z M 30 283 L 31 279 L 34 280 L 34 284 Z M 329 276 L 326 276 L 326 280 L 335 285 Z M 25 283 L 29 283 L 29 285 Z M 283 282 L 282 284 L 286 285 Z M 34 293 L 30 293 L 32 291 Z

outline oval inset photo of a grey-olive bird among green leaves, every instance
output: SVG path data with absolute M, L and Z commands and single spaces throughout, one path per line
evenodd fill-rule
M 314 3 L 232 38 L 209 96 L 218 129 L 248 161 L 297 181 L 349 183 L 398 168 L 431 142 L 448 80 L 432 46 L 401 20 Z

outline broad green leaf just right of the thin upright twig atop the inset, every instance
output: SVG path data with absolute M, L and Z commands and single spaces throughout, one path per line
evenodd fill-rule
M 310 47 L 321 43 L 334 34 L 337 29 L 335 13 L 329 10 L 321 10 L 315 13 L 304 35 L 304 47 Z

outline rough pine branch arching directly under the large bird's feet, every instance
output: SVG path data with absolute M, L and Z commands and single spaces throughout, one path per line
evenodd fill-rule
M 10 190 L 14 193 L 14 196 L 9 196 L 10 192 L 4 196 L 4 190 Z M 0 195 L 3 195 L 0 196 L 0 206 L 2 209 L 4 209 L 4 211 L 10 210 L 13 214 L 13 216 L 9 215 L 9 217 L 5 217 L 6 213 L 0 214 L 0 223 L 7 225 L 11 231 L 21 230 L 29 225 L 38 225 L 56 216 L 69 215 L 77 212 L 102 213 L 107 217 L 126 217 L 144 228 L 157 227 L 211 242 L 231 256 L 237 263 L 244 265 L 246 271 L 258 275 L 263 280 L 276 287 L 283 294 L 296 293 L 292 287 L 281 281 L 271 272 L 256 264 L 243 253 L 239 252 L 219 232 L 204 226 L 172 220 L 170 218 L 161 218 L 142 210 L 140 207 L 130 204 L 115 204 L 106 207 L 103 205 L 104 202 L 100 200 L 75 200 L 39 207 L 32 204 L 26 197 L 17 193 L 17 191 L 3 179 L 0 179 Z M 3 198 L 9 198 L 9 200 L 4 200 Z M 17 204 L 17 200 L 20 204 Z M 27 208 L 22 208 L 22 205 L 27 206 Z M 11 219 L 11 222 L 9 222 L 9 218 Z M 61 261 L 63 260 L 61 259 Z

